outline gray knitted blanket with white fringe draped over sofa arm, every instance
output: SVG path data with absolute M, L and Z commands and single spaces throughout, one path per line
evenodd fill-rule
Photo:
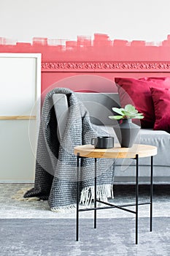
M 57 136 L 53 94 L 66 94 L 69 103 L 69 118 L 61 141 Z M 26 192 L 24 197 L 48 200 L 52 211 L 74 208 L 77 198 L 77 157 L 74 147 L 90 144 L 91 138 L 98 135 L 106 135 L 106 132 L 90 123 L 88 111 L 73 91 L 63 88 L 50 91 L 42 107 L 34 188 Z M 89 204 L 94 194 L 94 159 L 82 161 L 80 203 Z M 101 200 L 112 197 L 114 162 L 114 159 L 98 159 L 97 197 Z

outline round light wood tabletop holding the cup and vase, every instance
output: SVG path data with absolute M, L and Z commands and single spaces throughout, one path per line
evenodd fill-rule
M 115 144 L 114 148 L 94 148 L 92 145 L 76 146 L 74 154 L 80 154 L 80 157 L 92 158 L 135 158 L 152 157 L 157 154 L 157 147 L 151 145 L 134 144 L 131 148 L 121 148 Z

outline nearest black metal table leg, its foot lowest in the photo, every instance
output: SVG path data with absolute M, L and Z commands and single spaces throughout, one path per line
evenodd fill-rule
M 139 156 L 136 154 L 136 244 L 138 244 L 138 197 L 139 197 Z

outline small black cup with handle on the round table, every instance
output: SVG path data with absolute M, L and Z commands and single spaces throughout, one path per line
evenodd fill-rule
M 98 136 L 96 138 L 92 138 L 91 145 L 94 145 L 95 148 L 113 148 L 114 137 Z

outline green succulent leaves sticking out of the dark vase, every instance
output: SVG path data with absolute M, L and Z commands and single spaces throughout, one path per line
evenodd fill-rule
M 109 116 L 110 119 L 120 120 L 120 119 L 131 119 L 131 118 L 137 118 L 137 119 L 144 118 L 143 114 L 138 113 L 138 110 L 136 110 L 136 108 L 131 104 L 125 105 L 125 108 L 112 108 L 112 110 L 115 113 L 118 113 L 119 116 Z

